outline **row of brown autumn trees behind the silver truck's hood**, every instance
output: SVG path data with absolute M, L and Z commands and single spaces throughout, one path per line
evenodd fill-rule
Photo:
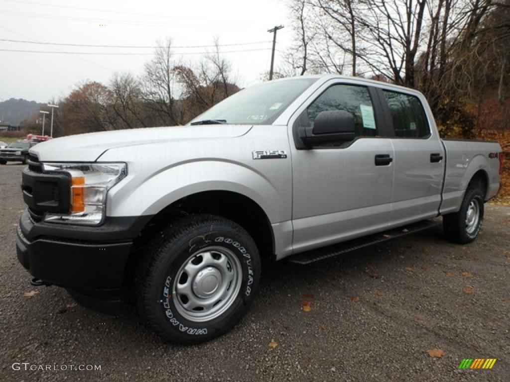
M 140 77 L 115 73 L 108 85 L 81 84 L 60 101 L 55 135 L 187 123 L 239 90 L 217 41 L 215 47 L 198 63 L 185 65 L 173 57 L 166 39 Z

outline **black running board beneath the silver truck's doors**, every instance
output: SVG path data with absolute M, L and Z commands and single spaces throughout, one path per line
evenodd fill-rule
M 420 232 L 441 224 L 441 220 L 425 220 L 422 222 L 394 228 L 386 232 L 379 232 L 373 235 L 352 239 L 339 244 L 330 245 L 329 247 L 319 248 L 308 252 L 303 252 L 289 257 L 289 261 L 294 264 L 310 264 L 316 261 L 329 259 L 347 252 L 359 250 L 360 248 L 369 247 L 370 245 L 394 239 L 395 237 L 409 235 L 411 233 Z

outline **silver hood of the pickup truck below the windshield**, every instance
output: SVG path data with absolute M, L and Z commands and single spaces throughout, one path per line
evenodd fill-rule
M 114 130 L 69 135 L 42 142 L 30 149 L 40 161 L 95 161 L 106 151 L 126 146 L 185 140 L 234 138 L 246 134 L 252 125 L 198 125 Z

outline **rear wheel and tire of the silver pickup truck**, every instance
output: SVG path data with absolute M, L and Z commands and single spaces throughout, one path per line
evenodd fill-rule
M 443 230 L 448 240 L 467 244 L 476 239 L 483 221 L 484 197 L 478 185 L 468 186 L 461 209 L 443 216 Z

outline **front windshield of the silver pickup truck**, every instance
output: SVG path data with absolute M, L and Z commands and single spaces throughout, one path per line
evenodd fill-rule
M 190 124 L 271 124 L 316 80 L 300 77 L 243 89 L 199 115 Z

